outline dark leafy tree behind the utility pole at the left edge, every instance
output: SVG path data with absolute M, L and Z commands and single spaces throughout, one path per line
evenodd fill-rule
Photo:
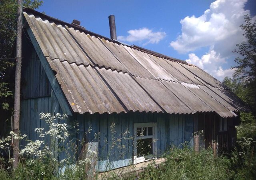
M 24 0 L 23 6 L 36 9 L 42 3 L 41 0 Z M 6 132 L 6 120 L 13 113 L 17 8 L 16 0 L 0 1 L 0 138 Z

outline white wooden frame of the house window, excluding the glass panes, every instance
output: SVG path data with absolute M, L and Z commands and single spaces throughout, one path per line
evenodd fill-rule
M 138 136 L 137 137 L 137 128 L 148 128 L 148 127 L 152 127 L 152 135 Z M 154 159 L 154 158 L 157 157 L 156 134 L 157 134 L 156 122 L 134 123 L 133 164 L 148 161 L 150 159 Z M 152 140 L 152 152 L 153 152 L 153 154 L 151 156 L 148 155 L 148 156 L 137 157 L 137 139 L 147 139 L 147 138 L 153 138 L 153 140 Z

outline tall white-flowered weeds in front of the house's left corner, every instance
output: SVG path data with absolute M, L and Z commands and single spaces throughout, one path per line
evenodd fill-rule
M 0 179 L 14 180 L 57 180 L 57 179 L 84 179 L 84 166 L 90 164 L 89 158 L 76 161 L 77 155 L 76 132 L 78 124 L 69 122 L 67 116 L 50 113 L 40 113 L 40 119 L 48 127 L 36 128 L 34 131 L 39 135 L 35 141 L 26 140 L 27 144 L 20 150 L 18 168 L 12 169 L 14 160 L 0 160 Z M 68 124 L 70 125 L 68 125 Z M 26 135 L 17 135 L 10 132 L 14 139 L 24 140 Z M 0 149 L 8 152 L 10 150 L 11 136 L 0 140 Z M 69 146 L 66 146 L 66 144 Z M 9 151 L 10 152 L 10 151 Z M 65 154 L 65 159 L 59 161 L 60 154 Z M 72 156 L 71 153 L 74 153 Z M 8 167 L 4 170 L 4 167 Z

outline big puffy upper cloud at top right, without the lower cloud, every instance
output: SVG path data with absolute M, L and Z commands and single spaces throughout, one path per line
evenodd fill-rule
M 200 17 L 187 16 L 180 20 L 182 34 L 170 46 L 180 53 L 194 51 L 201 47 L 215 46 L 225 42 L 229 47 L 243 39 L 239 27 L 244 22 L 244 15 L 250 14 L 244 10 L 247 0 L 216 0 Z M 227 44 L 228 40 L 230 43 Z M 220 48 L 219 48 L 220 50 Z M 233 50 L 233 49 L 232 49 Z M 231 51 L 232 51 L 231 50 Z

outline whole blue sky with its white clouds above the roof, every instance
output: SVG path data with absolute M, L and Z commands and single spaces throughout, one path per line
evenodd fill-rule
M 244 14 L 256 15 L 254 0 L 44 0 L 39 12 L 109 37 L 116 16 L 118 40 L 187 60 L 222 80 L 231 76 L 235 44 L 244 40 Z M 254 17 L 256 18 L 256 17 Z

